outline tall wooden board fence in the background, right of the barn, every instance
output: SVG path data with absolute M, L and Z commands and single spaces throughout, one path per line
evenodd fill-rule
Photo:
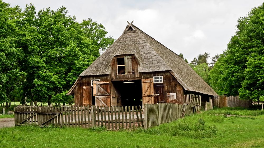
M 240 100 L 239 96 L 214 96 L 213 105 L 222 107 L 244 107 L 252 106 L 251 100 Z

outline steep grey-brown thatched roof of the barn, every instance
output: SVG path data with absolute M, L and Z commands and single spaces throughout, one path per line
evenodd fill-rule
M 126 29 L 128 27 L 129 25 Z M 138 59 L 139 73 L 170 71 L 185 90 L 217 95 L 184 59 L 136 26 L 133 27 L 135 30 L 124 31 L 80 76 L 111 74 L 111 61 L 114 56 L 134 54 Z

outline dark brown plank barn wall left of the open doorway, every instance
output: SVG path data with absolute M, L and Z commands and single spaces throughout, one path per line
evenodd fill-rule
M 78 106 L 83 105 L 83 87 L 82 86 L 91 86 L 91 80 L 93 79 L 100 79 L 100 81 L 110 81 L 110 75 L 82 76 L 82 80 L 76 85 L 76 88 L 74 89 L 75 105 L 78 105 Z

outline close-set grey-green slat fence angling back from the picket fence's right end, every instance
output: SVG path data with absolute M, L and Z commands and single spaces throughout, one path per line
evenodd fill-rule
M 185 114 L 190 115 L 194 111 L 191 107 L 194 104 L 185 106 Z M 157 126 L 182 118 L 183 105 L 180 104 L 144 104 L 144 128 Z

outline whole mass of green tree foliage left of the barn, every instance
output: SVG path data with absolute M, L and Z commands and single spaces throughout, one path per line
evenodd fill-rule
M 0 1 L 0 103 L 13 96 L 22 103 L 72 101 L 65 92 L 114 42 L 102 24 L 75 19 L 63 6 L 22 11 Z

